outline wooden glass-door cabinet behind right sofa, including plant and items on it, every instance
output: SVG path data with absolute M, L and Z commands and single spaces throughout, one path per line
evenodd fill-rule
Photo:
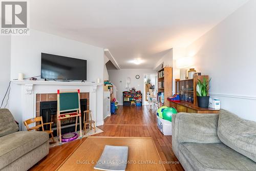
M 195 69 L 188 71 L 184 80 L 175 80 L 175 95 L 168 97 L 170 107 L 178 112 L 187 113 L 219 113 L 219 99 L 209 99 L 209 76 L 196 73 Z

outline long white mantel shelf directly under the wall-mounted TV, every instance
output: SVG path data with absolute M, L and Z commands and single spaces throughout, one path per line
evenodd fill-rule
M 11 80 L 15 84 L 33 85 L 59 85 L 59 86 L 103 86 L 103 83 L 78 82 L 78 81 L 32 81 L 32 80 Z

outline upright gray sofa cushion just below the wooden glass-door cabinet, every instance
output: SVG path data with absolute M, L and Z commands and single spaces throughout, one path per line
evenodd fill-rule
M 218 114 L 178 113 L 178 142 L 217 143 Z

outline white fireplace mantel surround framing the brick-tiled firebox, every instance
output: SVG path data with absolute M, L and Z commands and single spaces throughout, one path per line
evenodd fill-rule
M 26 130 L 24 120 L 36 116 L 36 94 L 57 93 L 57 90 L 76 90 L 90 93 L 89 108 L 92 111 L 93 119 L 96 125 L 102 125 L 103 121 L 97 121 L 97 87 L 103 86 L 103 83 L 95 82 L 76 82 L 76 81 L 32 81 L 32 80 L 11 80 L 12 91 L 20 92 L 20 98 L 11 94 L 10 109 L 22 122 L 21 130 Z M 21 86 L 21 87 L 20 87 Z M 22 116 L 20 116 L 22 115 Z

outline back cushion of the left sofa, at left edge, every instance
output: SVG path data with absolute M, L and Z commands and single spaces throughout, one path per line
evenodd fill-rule
M 18 125 L 11 112 L 8 109 L 0 109 L 0 137 L 17 131 Z

